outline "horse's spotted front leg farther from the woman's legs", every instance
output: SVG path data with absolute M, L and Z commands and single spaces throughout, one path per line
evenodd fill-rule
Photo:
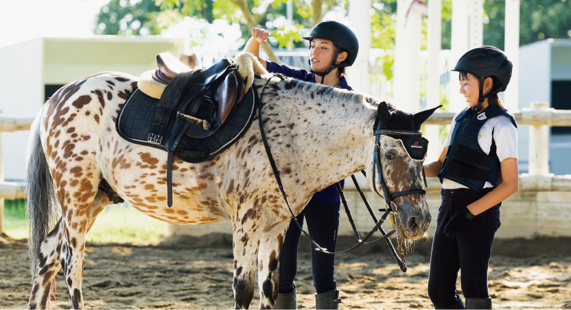
M 251 210 L 251 209 L 250 209 Z M 254 273 L 262 232 L 247 211 L 233 218 L 232 243 L 234 252 L 233 291 L 235 309 L 248 309 L 254 297 Z

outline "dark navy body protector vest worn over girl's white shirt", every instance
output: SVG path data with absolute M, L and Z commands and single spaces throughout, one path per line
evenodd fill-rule
M 517 128 L 513 116 L 500 107 L 488 107 L 479 113 L 468 107 L 456 117 L 450 146 L 438 175 L 441 183 L 446 178 L 479 192 L 486 181 L 494 186 L 502 182 L 493 129 L 489 154 L 482 151 L 478 144 L 478 133 L 484 123 L 498 116 L 506 116 Z

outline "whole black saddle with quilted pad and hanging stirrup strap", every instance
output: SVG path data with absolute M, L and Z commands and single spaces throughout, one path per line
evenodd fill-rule
M 257 96 L 254 88 L 244 93 L 244 81 L 229 58 L 207 69 L 187 70 L 174 56 L 159 54 L 157 65 L 153 79 L 166 83 L 160 99 L 135 90 L 115 127 L 129 142 L 167 152 L 170 207 L 173 157 L 198 163 L 222 153 L 250 126 Z

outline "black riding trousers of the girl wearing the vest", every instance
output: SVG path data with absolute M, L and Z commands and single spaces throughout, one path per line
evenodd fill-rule
M 436 231 L 430 255 L 428 297 L 434 307 L 450 307 L 456 303 L 456 278 L 461 270 L 465 298 L 489 298 L 488 264 L 493 237 L 500 227 L 500 204 L 478 214 L 458 239 L 444 235 L 444 227 L 456 211 L 490 192 L 468 189 L 442 190 L 442 203 L 436 218 Z

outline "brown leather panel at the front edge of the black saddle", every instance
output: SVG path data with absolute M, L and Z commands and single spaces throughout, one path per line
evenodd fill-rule
M 236 70 L 226 75 L 224 82 L 218 88 L 218 118 L 220 124 L 230 115 L 236 103 L 244 99 L 244 80 Z

